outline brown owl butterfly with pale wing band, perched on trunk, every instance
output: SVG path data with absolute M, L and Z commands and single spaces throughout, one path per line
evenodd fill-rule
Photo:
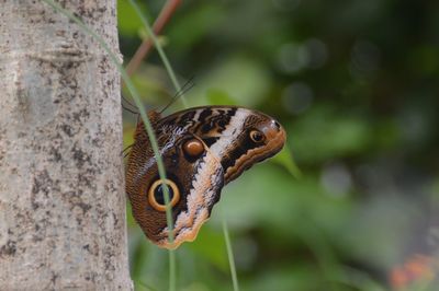
M 143 121 L 138 121 L 126 167 L 126 191 L 133 216 L 158 246 L 176 248 L 193 241 L 219 200 L 224 185 L 245 170 L 278 153 L 285 131 L 273 118 L 230 106 L 206 106 L 161 117 L 150 112 L 166 181 Z M 169 243 L 162 184 L 172 207 L 173 242 Z

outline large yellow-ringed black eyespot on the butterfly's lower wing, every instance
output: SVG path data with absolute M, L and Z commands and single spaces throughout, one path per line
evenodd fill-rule
M 164 181 L 159 178 L 153 183 L 148 190 L 148 202 L 157 211 L 166 211 L 164 184 L 168 186 L 171 207 L 177 205 L 180 200 L 180 191 L 176 183 L 170 179 L 165 179 L 164 183 Z

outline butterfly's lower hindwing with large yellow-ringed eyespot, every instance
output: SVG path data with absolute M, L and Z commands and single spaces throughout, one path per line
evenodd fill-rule
M 155 193 L 151 187 L 161 181 L 157 161 L 142 127 L 140 123 L 130 154 L 126 175 L 126 190 L 132 202 L 133 216 L 155 244 L 175 248 L 184 241 L 193 241 L 201 225 L 209 219 L 224 185 L 224 171 L 206 146 L 180 124 L 155 124 L 168 188 L 172 191 L 172 198 L 178 197 L 171 203 L 175 238 L 173 243 L 169 243 L 165 208 L 158 207 L 154 201 L 157 202 L 160 197 L 153 197 Z M 189 155 L 184 146 L 188 142 L 195 146 L 199 142 L 198 146 L 202 148 L 195 151 L 195 154 Z M 165 205 L 162 199 L 160 202 Z

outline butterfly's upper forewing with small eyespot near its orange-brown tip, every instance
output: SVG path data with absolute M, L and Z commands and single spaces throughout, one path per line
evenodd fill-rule
M 185 124 L 189 132 L 203 140 L 221 162 L 225 184 L 277 154 L 286 139 L 284 129 L 272 117 L 241 107 L 199 107 L 171 115 L 169 119 Z

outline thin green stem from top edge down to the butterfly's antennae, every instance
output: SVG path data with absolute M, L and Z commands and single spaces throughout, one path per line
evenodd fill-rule
M 162 49 L 161 45 L 159 44 L 156 34 L 154 33 L 151 26 L 149 25 L 148 21 L 142 13 L 140 8 L 137 5 L 136 1 L 130 0 L 130 3 L 133 5 L 134 10 L 136 11 L 138 18 L 142 20 L 142 23 L 145 26 L 146 32 L 148 33 L 149 37 L 151 38 L 154 46 L 156 47 L 158 54 L 160 55 L 160 59 L 164 62 L 164 66 L 166 70 L 168 71 L 169 78 L 172 81 L 173 86 L 176 88 L 177 92 L 181 92 L 181 85 L 179 81 L 177 80 L 176 73 L 173 72 L 173 69 L 171 67 L 171 63 L 168 60 L 168 57 L 165 54 L 165 50 Z M 181 93 L 181 102 L 183 103 L 183 107 L 188 107 L 188 103 L 185 101 L 184 94 Z

